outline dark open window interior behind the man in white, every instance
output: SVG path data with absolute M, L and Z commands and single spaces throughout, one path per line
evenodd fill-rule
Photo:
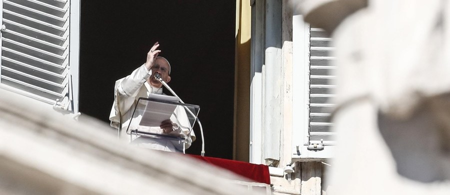
M 168 84 L 200 106 L 206 156 L 232 158 L 234 0 L 81 0 L 80 12 L 83 114 L 109 123 L 114 81 L 143 64 L 158 41 L 172 67 Z M 199 155 L 197 124 L 194 131 L 187 152 Z

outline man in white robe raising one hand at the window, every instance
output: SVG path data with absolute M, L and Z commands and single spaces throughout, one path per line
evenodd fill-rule
M 162 94 L 162 83 L 154 75 L 158 73 L 165 82 L 170 81 L 170 64 L 164 57 L 158 57 L 156 42 L 147 53 L 146 62 L 136 68 L 130 75 L 121 78 L 114 85 L 114 102 L 109 114 L 111 126 L 119 129 L 122 140 L 128 140 L 139 147 L 163 151 L 181 152 L 195 140 L 195 134 L 187 114 L 182 106 L 177 106 L 170 119 L 161 122 L 160 126 L 142 127 L 137 125 L 142 117 L 142 110 L 133 110 L 137 103 L 144 103 L 139 97 L 148 97 L 150 93 Z M 132 117 L 133 116 L 133 117 Z M 132 117 L 132 118 L 131 118 Z M 131 121 L 131 123 L 130 123 Z M 185 141 L 147 136 L 130 136 L 126 134 L 127 127 L 145 128 L 140 130 L 185 137 Z M 129 130 L 128 130 L 129 131 Z M 128 132 L 129 133 L 129 132 Z M 131 137 L 131 138 L 130 138 Z

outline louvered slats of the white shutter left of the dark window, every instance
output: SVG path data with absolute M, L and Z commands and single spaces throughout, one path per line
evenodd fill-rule
M 73 110 L 69 5 L 69 0 L 2 1 L 3 87 Z

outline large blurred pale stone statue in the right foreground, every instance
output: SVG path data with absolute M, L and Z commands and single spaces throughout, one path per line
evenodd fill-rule
M 450 194 L 450 2 L 298 0 L 336 47 L 329 194 Z

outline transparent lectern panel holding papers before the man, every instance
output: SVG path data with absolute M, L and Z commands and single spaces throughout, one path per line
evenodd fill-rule
M 167 96 L 167 95 L 163 95 Z M 179 103 L 170 99 L 172 96 L 158 98 L 140 97 L 131 116 L 130 123 L 126 129 L 128 134 L 137 134 L 142 136 L 151 136 L 167 138 L 169 134 L 165 134 L 159 127 L 162 121 L 170 119 L 183 130 L 192 130 L 192 126 L 196 122 L 196 118 L 200 107 L 198 105 Z M 172 137 L 180 138 L 180 137 Z

